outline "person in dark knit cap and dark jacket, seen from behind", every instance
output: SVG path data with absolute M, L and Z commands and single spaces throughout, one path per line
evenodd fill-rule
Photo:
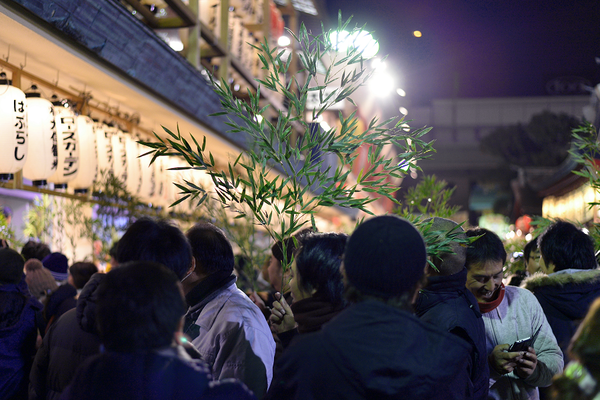
M 464 399 L 452 382 L 470 346 L 420 321 L 410 305 L 426 263 L 419 232 L 395 216 L 372 218 L 344 255 L 353 303 L 277 361 L 270 399 Z M 466 389 L 466 388 L 465 388 Z

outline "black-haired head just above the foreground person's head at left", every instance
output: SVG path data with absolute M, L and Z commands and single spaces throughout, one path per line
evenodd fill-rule
M 192 250 L 181 230 L 165 220 L 140 218 L 127 229 L 117 248 L 119 264 L 154 261 L 182 279 L 192 266 Z

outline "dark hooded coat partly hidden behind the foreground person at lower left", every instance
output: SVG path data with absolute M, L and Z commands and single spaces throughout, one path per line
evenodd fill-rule
M 104 274 L 94 274 L 85 285 L 77 308 L 63 314 L 44 337 L 29 376 L 29 399 L 56 399 L 77 368 L 100 351 L 96 330 L 96 289 Z

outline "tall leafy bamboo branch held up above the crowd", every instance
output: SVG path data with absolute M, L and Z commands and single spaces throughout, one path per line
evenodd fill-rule
M 348 23 L 342 23 L 340 14 L 337 31 L 345 30 Z M 210 78 L 223 108 L 223 112 L 215 115 L 226 115 L 231 132 L 243 133 L 251 140 L 247 151 L 230 161 L 226 168 L 217 167 L 206 148 L 206 138 L 197 140 L 192 135 L 190 142 L 182 137 L 179 129 L 173 132 L 163 127 L 164 138 L 155 133 L 157 142 L 141 142 L 151 149 L 147 154 L 152 156 L 152 162 L 160 156 L 174 155 L 187 162 L 187 169 L 208 173 L 214 184 L 214 195 L 224 207 L 233 209 L 239 218 L 252 215 L 273 240 L 283 243 L 306 224 L 314 227 L 314 214 L 320 207 L 340 206 L 371 214 L 368 205 L 376 200 L 371 193 L 397 202 L 393 193 L 398 187 L 388 178 L 404 176 L 404 160 L 409 160 L 409 167 L 418 169 L 416 162 L 433 151 L 432 143 L 422 140 L 429 129 L 406 132 L 402 118 L 387 121 L 373 118 L 364 131 L 358 131 L 356 111 L 349 116 L 340 113 L 340 129 L 315 130 L 305 115 L 309 114 L 309 120 L 314 121 L 339 102 L 348 100 L 354 104 L 351 96 L 371 73 L 357 48 L 349 47 L 344 53 L 336 53 L 329 40 L 330 32 L 313 35 L 302 25 L 298 35 L 290 34 L 298 42 L 302 69 L 289 79 L 286 77 L 295 57 L 285 59 L 285 52 L 272 48 L 267 40 L 254 46 L 259 51 L 266 76 L 257 80 L 256 93 L 248 92 L 248 101 L 237 99 L 225 80 L 217 82 Z M 317 67 L 326 55 L 332 55 L 333 60 L 321 75 Z M 305 76 L 306 80 L 298 81 L 299 76 Z M 333 90 L 327 92 L 327 88 Z M 281 94 L 288 108 L 276 110 L 271 109 L 270 104 L 261 106 L 260 93 L 265 89 Z M 321 103 L 315 109 L 307 108 L 311 92 L 318 93 Z M 276 118 L 269 118 L 270 113 Z M 294 132 L 299 134 L 297 141 L 292 140 Z M 353 180 L 348 166 L 363 145 L 369 146 L 370 165 Z M 389 145 L 400 149 L 397 158 L 385 155 L 383 149 Z M 323 155 L 326 153 L 337 156 L 337 166 L 325 166 Z M 202 204 L 208 196 L 191 181 L 175 185 L 182 197 L 174 204 L 188 199 Z M 362 196 L 357 196 L 359 194 Z M 285 248 L 283 254 L 286 254 Z M 284 259 L 284 271 L 290 262 Z

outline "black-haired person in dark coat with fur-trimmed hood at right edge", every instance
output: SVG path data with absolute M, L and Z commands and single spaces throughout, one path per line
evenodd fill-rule
M 566 362 L 566 350 L 579 322 L 600 297 L 594 243 L 581 229 L 565 221 L 550 225 L 538 240 L 544 273 L 527 279 L 524 287 L 542 305 Z

